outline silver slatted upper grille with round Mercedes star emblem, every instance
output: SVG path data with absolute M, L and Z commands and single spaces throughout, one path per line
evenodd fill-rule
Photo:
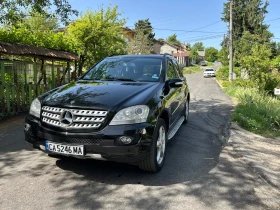
M 107 111 L 42 107 L 42 121 L 62 128 L 97 129 L 102 125 L 106 115 Z

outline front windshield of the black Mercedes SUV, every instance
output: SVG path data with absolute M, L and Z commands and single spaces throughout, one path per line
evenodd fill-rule
M 161 58 L 106 58 L 95 65 L 81 79 L 157 82 L 161 71 Z

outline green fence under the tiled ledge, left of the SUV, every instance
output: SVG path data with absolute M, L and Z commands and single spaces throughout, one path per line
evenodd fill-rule
M 69 63 L 63 66 L 0 60 L 0 119 L 27 111 L 34 98 L 70 82 L 70 74 Z

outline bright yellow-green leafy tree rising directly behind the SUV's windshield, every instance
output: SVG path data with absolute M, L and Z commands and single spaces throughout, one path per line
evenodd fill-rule
M 126 42 L 122 36 L 125 20 L 119 18 L 117 9 L 114 6 L 96 12 L 86 11 L 67 28 L 78 45 L 78 75 L 82 74 L 84 66 L 90 67 L 109 55 L 125 52 Z

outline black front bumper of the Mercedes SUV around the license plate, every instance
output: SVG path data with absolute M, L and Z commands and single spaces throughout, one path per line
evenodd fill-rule
M 34 148 L 46 153 L 46 141 L 67 145 L 83 145 L 84 156 L 77 158 L 93 158 L 117 162 L 137 163 L 144 160 L 150 151 L 154 126 L 149 123 L 134 125 L 106 126 L 101 131 L 87 133 L 61 132 L 45 128 L 40 120 L 29 115 L 25 119 L 25 140 Z M 121 145 L 117 139 L 130 136 L 133 141 L 129 145 Z M 54 154 L 54 153 L 51 153 Z M 59 154 L 62 155 L 62 154 Z

